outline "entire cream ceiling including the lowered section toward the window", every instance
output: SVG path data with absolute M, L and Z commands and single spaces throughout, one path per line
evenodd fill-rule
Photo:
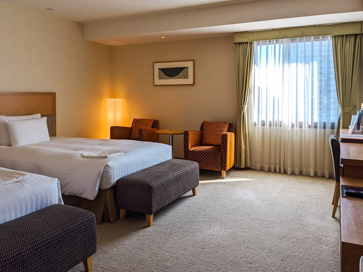
M 80 22 L 86 40 L 108 45 L 363 20 L 362 0 L 0 1 Z

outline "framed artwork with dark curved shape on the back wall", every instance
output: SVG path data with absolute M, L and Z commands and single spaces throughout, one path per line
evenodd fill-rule
M 154 62 L 154 85 L 194 85 L 194 60 Z

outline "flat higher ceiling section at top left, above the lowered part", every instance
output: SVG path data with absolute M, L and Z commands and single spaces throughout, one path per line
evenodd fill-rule
M 132 16 L 166 10 L 185 10 L 257 0 L 2 0 L 10 4 L 45 11 L 75 22 Z

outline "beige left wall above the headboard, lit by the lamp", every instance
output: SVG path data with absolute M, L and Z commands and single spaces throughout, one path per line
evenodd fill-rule
M 57 135 L 106 137 L 110 53 L 78 23 L 0 2 L 0 91 L 56 92 Z

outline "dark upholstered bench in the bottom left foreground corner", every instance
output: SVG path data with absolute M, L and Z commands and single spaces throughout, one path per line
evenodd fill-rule
M 96 252 L 93 213 L 52 205 L 0 225 L 0 271 L 65 272 Z

